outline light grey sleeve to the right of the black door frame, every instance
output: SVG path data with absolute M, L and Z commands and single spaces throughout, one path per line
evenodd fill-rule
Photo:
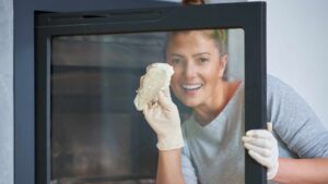
M 328 132 L 305 100 L 273 76 L 267 84 L 268 121 L 279 138 L 298 157 L 328 157 Z

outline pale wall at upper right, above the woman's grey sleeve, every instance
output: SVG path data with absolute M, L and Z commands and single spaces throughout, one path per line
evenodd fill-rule
M 267 0 L 268 73 L 292 86 L 326 127 L 327 10 L 327 0 Z

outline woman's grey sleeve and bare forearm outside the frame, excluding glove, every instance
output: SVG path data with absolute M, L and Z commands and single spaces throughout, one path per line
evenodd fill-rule
M 328 183 L 328 132 L 306 101 L 290 86 L 268 76 L 267 112 L 277 136 L 301 159 L 279 158 L 274 181 Z M 313 180 L 313 182 L 311 181 Z

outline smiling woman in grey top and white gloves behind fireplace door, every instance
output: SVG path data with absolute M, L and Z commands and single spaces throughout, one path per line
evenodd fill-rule
M 159 94 L 159 106 L 144 109 L 159 139 L 156 182 L 244 183 L 244 146 L 268 168 L 272 183 L 327 183 L 327 131 L 301 97 L 274 77 L 268 76 L 267 82 L 268 122 L 273 123 L 273 135 L 253 130 L 241 140 L 244 85 L 223 79 L 227 56 L 220 35 L 224 32 L 169 35 L 166 59 L 175 71 L 171 87 L 194 113 L 181 131 L 168 89 Z

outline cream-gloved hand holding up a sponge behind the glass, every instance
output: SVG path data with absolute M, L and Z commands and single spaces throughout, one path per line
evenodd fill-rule
M 172 101 L 168 87 L 159 93 L 155 105 L 143 109 L 148 123 L 157 135 L 157 148 L 171 150 L 184 146 L 180 118 L 176 105 Z

